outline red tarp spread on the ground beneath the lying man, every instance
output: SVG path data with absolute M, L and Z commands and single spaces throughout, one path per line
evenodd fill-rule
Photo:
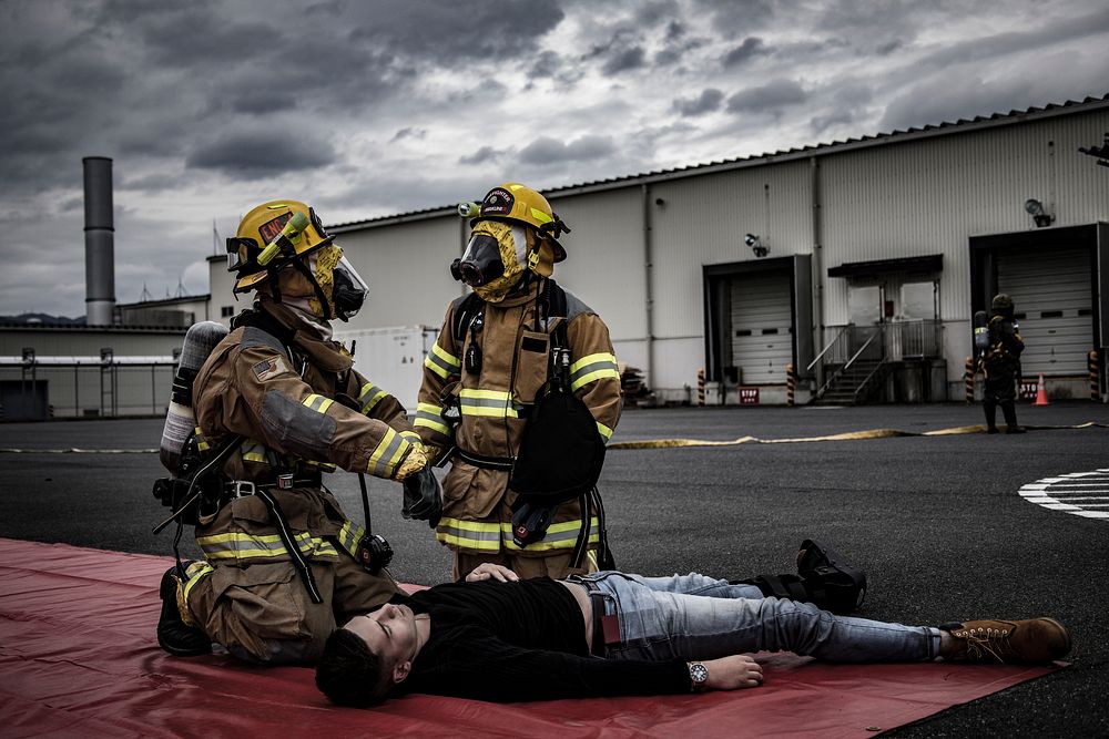
M 154 639 L 165 557 L 0 538 L 4 737 L 869 737 L 1051 668 L 822 665 L 767 655 L 735 692 L 495 705 L 410 696 L 334 708 L 308 668 L 174 658 Z

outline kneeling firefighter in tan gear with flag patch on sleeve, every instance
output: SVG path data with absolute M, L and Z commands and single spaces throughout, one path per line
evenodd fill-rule
M 367 290 L 315 213 L 265 203 L 227 240 L 234 291 L 256 296 L 192 382 L 190 443 L 201 459 L 232 451 L 193 514 L 204 561 L 163 577 L 159 644 L 314 664 L 336 624 L 399 592 L 383 568 L 391 550 L 343 512 L 326 473 L 401 482 L 405 513 L 433 521 L 440 492 L 405 409 L 330 340 L 329 321 L 354 316 Z

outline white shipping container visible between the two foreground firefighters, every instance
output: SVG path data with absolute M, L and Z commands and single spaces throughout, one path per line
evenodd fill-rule
M 396 396 L 409 415 L 416 413 L 416 396 L 424 379 L 427 356 L 439 329 L 430 326 L 398 326 L 335 331 L 354 352 L 354 368 L 367 380 Z

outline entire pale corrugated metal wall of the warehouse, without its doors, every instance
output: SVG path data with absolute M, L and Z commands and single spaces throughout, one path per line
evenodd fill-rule
M 650 270 L 642 184 L 649 177 L 554 193 L 554 209 L 573 228 L 564 237 L 569 258 L 556 277 L 604 318 L 618 357 L 653 365 L 648 382 L 665 397 L 668 389 L 684 392 L 704 362 L 703 267 L 755 259 L 745 234 L 759 235 L 772 258 L 812 254 L 815 312 L 825 326 L 848 319 L 846 280 L 828 278 L 828 268 L 943 254 L 939 318 L 955 377 L 969 336 L 969 237 L 1034 229 L 1024 211 L 1029 197 L 1057 216 L 1056 226 L 1109 220 L 1106 170 L 1078 152 L 1102 142 L 1109 111 L 1068 109 L 1031 117 L 814 150 L 823 246 L 815 254 L 814 176 L 804 156 L 650 182 Z M 460 239 L 454 216 L 340 234 L 338 243 L 372 292 L 352 328 L 438 325 L 447 301 L 460 294 L 447 273 Z M 818 328 L 814 332 L 818 351 L 824 337 Z

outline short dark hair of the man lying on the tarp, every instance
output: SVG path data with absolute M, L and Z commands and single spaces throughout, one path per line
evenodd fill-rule
M 385 698 L 391 685 L 381 658 L 360 636 L 339 628 L 324 645 L 316 666 L 316 687 L 333 704 L 366 708 Z

